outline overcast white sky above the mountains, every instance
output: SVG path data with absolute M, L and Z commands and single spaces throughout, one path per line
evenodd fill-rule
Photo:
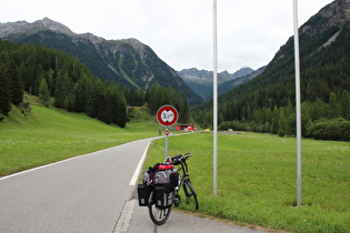
M 268 64 L 293 36 L 293 0 L 217 0 L 218 71 Z M 298 24 L 332 0 L 298 0 Z M 0 22 L 50 18 L 76 33 L 136 38 L 174 70 L 213 70 L 213 0 L 2 0 Z

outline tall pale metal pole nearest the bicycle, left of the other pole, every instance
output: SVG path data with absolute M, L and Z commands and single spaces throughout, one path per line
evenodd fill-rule
M 218 49 L 217 49 L 217 0 L 213 10 L 213 195 L 218 194 Z

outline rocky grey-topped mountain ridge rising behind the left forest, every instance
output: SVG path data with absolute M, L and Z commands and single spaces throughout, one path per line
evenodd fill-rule
M 49 18 L 33 23 L 0 23 L 0 38 L 47 44 L 68 52 L 84 62 L 94 75 L 121 87 L 148 91 L 159 83 L 183 91 L 191 105 L 202 102 L 172 68 L 137 39 L 106 40 L 92 33 L 77 34 Z

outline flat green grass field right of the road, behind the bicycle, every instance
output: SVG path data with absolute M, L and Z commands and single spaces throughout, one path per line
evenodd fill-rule
M 171 155 L 192 152 L 190 176 L 200 213 L 291 232 L 349 232 L 350 143 L 302 141 L 303 205 L 297 203 L 296 139 L 219 134 L 218 195 L 212 195 L 212 134 L 171 136 Z M 144 168 L 164 159 L 157 140 Z

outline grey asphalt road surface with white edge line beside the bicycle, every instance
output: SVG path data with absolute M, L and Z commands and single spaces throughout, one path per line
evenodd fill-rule
M 134 192 L 151 140 L 0 178 L 0 233 L 257 232 L 177 212 L 156 226 Z

